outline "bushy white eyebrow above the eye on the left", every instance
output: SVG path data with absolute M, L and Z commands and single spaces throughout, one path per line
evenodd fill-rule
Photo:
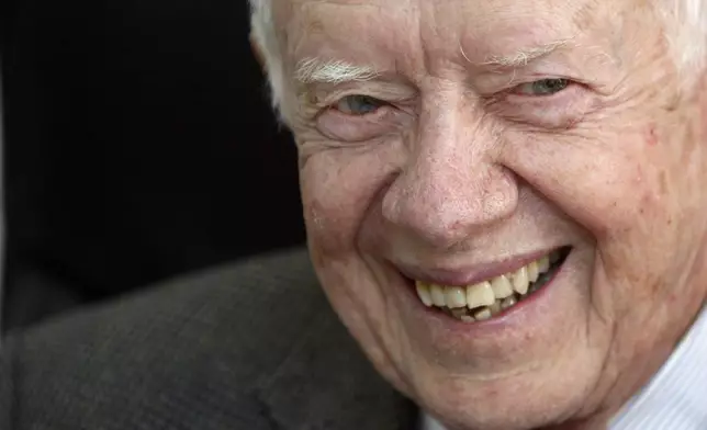
M 355 65 L 340 59 L 305 58 L 298 63 L 294 78 L 304 84 L 367 81 L 379 76 L 371 66 Z

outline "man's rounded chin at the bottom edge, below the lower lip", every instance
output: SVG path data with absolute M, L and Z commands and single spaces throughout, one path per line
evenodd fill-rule
M 480 381 L 428 369 L 414 376 L 414 400 L 449 430 L 529 430 L 572 421 L 579 427 L 601 366 L 575 362 Z M 581 369 L 576 369 L 581 367 Z M 571 373 L 569 373 L 571 372 Z

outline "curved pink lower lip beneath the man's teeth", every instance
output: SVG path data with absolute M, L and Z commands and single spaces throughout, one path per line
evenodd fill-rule
M 543 302 L 547 302 L 550 298 L 553 290 L 552 287 L 556 284 L 556 280 L 563 272 L 564 264 L 566 264 L 572 252 L 570 252 L 570 254 L 565 257 L 562 265 L 560 265 L 556 270 L 556 272 L 552 274 L 552 278 L 550 278 L 550 280 L 545 285 L 542 285 L 542 287 L 540 287 L 513 307 L 509 307 L 501 312 L 500 314 L 494 315 L 493 318 L 483 321 L 464 322 L 460 319 L 445 314 L 438 307 L 425 306 L 425 304 L 419 301 L 419 297 L 417 297 L 417 293 L 415 291 L 415 282 L 407 278 L 403 278 L 407 286 L 407 294 L 405 295 L 407 296 L 407 299 L 411 299 L 413 302 L 413 306 L 417 307 L 417 310 L 423 312 L 426 317 L 434 318 L 439 324 L 448 326 L 448 329 L 450 330 L 463 330 L 464 332 L 469 332 L 470 330 L 476 331 L 502 329 L 506 328 L 509 325 L 516 324 L 516 321 L 519 319 L 525 320 L 527 317 L 529 317 L 530 313 L 534 313 L 534 310 L 540 307 Z

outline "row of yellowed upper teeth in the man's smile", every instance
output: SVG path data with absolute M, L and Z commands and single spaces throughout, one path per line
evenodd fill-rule
M 529 285 L 549 270 L 550 257 L 546 256 L 513 273 L 502 274 L 473 285 L 447 286 L 422 281 L 417 281 L 415 285 L 417 295 L 425 306 L 473 309 L 493 306 L 496 301 L 513 296 L 514 292 L 520 295 L 527 294 Z

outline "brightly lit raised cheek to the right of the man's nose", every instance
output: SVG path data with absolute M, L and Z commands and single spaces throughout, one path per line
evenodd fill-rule
M 662 124 L 661 124 L 662 125 Z M 520 176 L 597 240 L 652 235 L 673 223 L 678 155 L 665 127 L 587 128 L 514 145 Z M 674 131 L 674 127 L 673 127 Z M 659 229 L 660 231 L 660 229 Z M 628 237 L 627 237 L 628 238 Z

